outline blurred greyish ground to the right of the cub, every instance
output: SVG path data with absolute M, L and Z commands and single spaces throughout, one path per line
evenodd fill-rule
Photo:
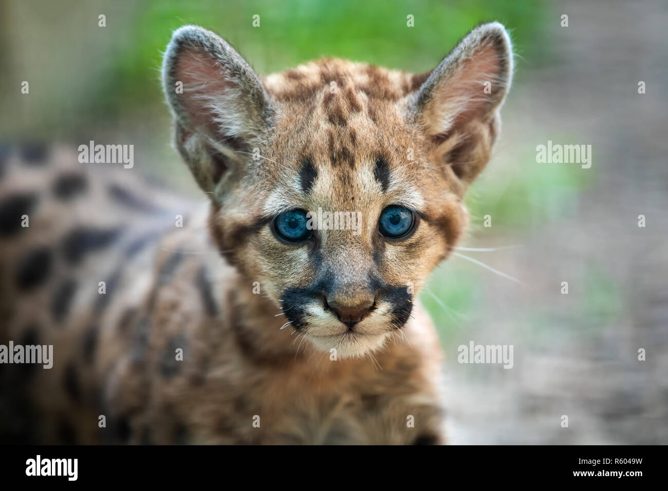
M 488 178 L 525 165 L 571 166 L 592 174 L 593 184 L 558 218 L 532 222 L 521 234 L 504 229 L 503 216 L 490 210 L 496 224 L 468 240 L 474 247 L 523 244 L 466 254 L 526 286 L 485 272 L 466 319 L 455 325 L 445 315 L 450 437 L 466 444 L 666 444 L 668 5 L 568 1 L 552 11 L 550 63 L 533 69 L 518 59 L 526 78 L 505 108 L 504 141 Z M 559 27 L 561 13 L 569 15 L 568 28 Z M 639 80 L 647 94 L 638 94 Z M 592 167 L 512 164 L 522 148 L 548 139 L 592 144 Z M 639 214 L 646 228 L 637 226 Z M 562 281 L 568 295 L 560 293 Z M 514 368 L 458 364 L 457 347 L 469 340 L 513 344 Z M 638 360 L 639 348 L 646 361 Z M 560 426 L 562 415 L 568 428 Z

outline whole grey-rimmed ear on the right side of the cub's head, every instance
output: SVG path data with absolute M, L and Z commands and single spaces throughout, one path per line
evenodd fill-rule
M 503 25 L 492 22 L 466 35 L 417 94 L 409 96 L 412 112 L 433 144 L 432 161 L 454 173 L 463 188 L 490 158 L 500 127 L 498 110 L 511 79 L 510 37 Z

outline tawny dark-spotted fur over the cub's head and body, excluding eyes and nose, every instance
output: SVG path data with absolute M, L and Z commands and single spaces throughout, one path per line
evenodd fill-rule
M 67 148 L 3 149 L 0 343 L 52 344 L 55 360 L 0 365 L 0 440 L 445 442 L 415 294 L 466 229 L 511 73 L 498 23 L 424 75 L 321 59 L 267 77 L 186 26 L 162 75 L 205 206 Z M 401 239 L 378 232 L 390 204 L 415 212 Z M 287 243 L 273 220 L 295 208 L 359 211 L 361 233 Z

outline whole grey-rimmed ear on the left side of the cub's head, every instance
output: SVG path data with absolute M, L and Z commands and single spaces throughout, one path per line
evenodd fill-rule
M 216 185 L 248 162 L 272 108 L 255 71 L 220 36 L 196 25 L 174 31 L 162 62 L 162 88 L 174 116 L 175 142 L 196 181 Z

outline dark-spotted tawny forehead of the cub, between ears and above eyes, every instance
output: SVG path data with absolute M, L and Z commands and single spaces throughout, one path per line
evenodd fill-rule
M 267 149 L 276 199 L 267 207 L 359 207 L 383 195 L 418 208 L 422 137 L 405 120 L 404 98 L 422 79 L 336 59 L 265 78 L 278 108 Z

